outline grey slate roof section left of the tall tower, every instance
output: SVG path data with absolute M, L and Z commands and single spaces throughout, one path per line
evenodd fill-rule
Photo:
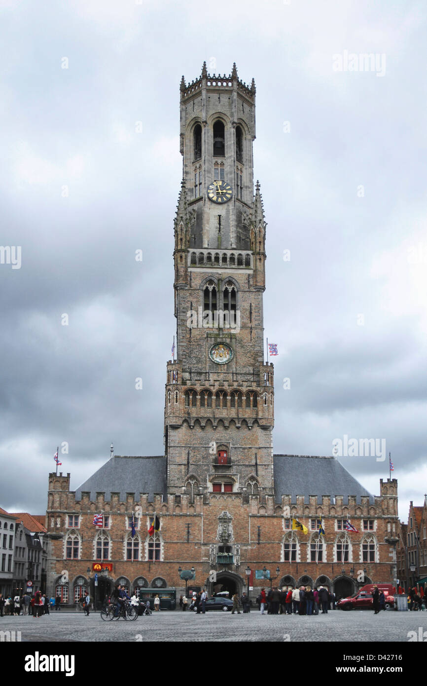
M 75 499 L 81 500 L 87 491 L 90 500 L 95 500 L 97 493 L 105 493 L 106 501 L 111 500 L 111 493 L 120 493 L 121 501 L 126 500 L 126 493 L 134 493 L 136 501 L 140 493 L 148 493 L 149 500 L 154 493 L 162 493 L 166 499 L 166 458 L 115 455 L 77 488 Z

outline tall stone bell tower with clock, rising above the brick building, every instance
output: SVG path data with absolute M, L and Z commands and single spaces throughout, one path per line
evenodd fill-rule
M 168 492 L 273 494 L 273 365 L 264 362 L 265 228 L 254 194 L 255 83 L 180 86 L 176 360 L 167 364 Z

